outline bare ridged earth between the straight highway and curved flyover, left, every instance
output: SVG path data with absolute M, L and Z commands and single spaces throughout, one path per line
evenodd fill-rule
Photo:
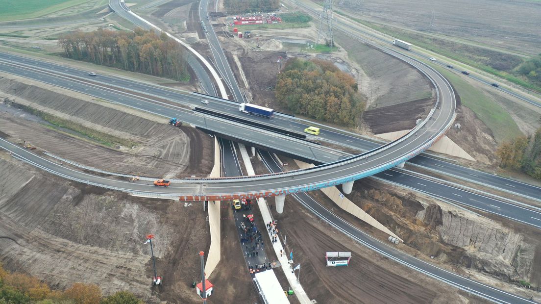
M 123 138 L 133 142 L 135 147 L 106 147 L 93 141 L 91 134 L 74 134 L 62 128 L 62 132 L 58 132 L 56 125 L 39 117 L 6 108 L 7 112 L 0 114 L 0 130 L 14 142 L 30 142 L 86 166 L 119 173 L 206 176 L 212 169 L 213 141 L 194 128 L 174 128 L 166 124 L 166 118 L 161 118 L 163 122 L 159 123 L 160 118 L 156 116 L 94 102 L 82 94 L 76 95 L 78 98 L 71 97 L 8 78 L 0 79 L 0 91 L 14 103 L 39 109 L 85 129 Z

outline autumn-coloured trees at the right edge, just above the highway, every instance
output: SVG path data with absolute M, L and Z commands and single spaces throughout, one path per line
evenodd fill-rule
M 541 180 L 541 128 L 530 139 L 520 136 L 503 143 L 496 155 L 500 159 L 500 167 L 520 170 Z

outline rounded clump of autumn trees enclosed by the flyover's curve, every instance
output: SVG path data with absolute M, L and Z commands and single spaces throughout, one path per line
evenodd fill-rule
M 360 122 L 365 109 L 354 78 L 322 60 L 289 60 L 274 93 L 294 114 L 351 127 Z

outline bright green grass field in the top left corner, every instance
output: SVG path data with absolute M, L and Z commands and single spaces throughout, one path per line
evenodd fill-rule
M 37 18 L 91 0 L 3 0 L 1 21 Z

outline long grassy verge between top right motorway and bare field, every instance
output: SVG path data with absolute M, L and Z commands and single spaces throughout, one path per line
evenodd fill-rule
M 374 24 L 359 18 L 348 16 L 347 14 L 344 14 L 344 12 L 340 11 L 337 11 L 337 14 L 352 19 L 353 21 L 363 24 L 366 27 L 372 28 L 389 36 L 393 36 L 394 38 L 410 42 L 420 48 L 436 52 L 447 58 L 463 62 L 471 67 L 496 75 L 509 82 L 521 85 L 524 88 L 541 92 L 541 87 L 539 87 L 539 85 L 533 84 L 524 80 L 523 78 L 511 74 L 510 71 L 523 61 L 519 56 L 505 54 L 496 50 L 474 47 L 463 43 L 452 42 L 446 39 L 415 34 L 413 32 L 388 27 L 386 25 Z M 496 67 L 501 66 L 502 69 L 496 69 L 491 67 L 491 65 Z

